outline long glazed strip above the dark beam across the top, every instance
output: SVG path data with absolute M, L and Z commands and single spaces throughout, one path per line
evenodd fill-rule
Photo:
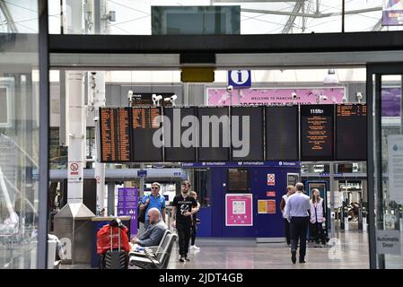
M 63 9 L 58 1 L 48 1 L 49 32 L 246 35 L 402 30 L 402 2 L 344 2 L 343 17 L 342 0 L 66 0 Z

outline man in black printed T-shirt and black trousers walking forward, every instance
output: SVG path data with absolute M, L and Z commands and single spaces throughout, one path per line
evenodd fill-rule
M 188 195 L 190 182 L 182 182 L 180 195 L 175 196 L 172 201 L 172 227 L 178 230 L 180 244 L 180 262 L 190 261 L 188 259 L 188 243 L 190 239 L 190 229 L 192 226 L 192 215 L 197 212 L 196 199 Z

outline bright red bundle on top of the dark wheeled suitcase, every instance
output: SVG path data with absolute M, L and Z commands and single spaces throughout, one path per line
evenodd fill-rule
M 101 230 L 97 232 L 97 254 L 102 254 L 110 250 L 110 224 L 104 225 Z M 118 249 L 118 230 L 120 231 L 120 248 L 125 251 L 130 251 L 130 244 L 127 236 L 127 227 L 123 228 L 114 227 L 112 230 L 113 247 Z

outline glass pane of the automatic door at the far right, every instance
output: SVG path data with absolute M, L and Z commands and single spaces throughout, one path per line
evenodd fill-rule
M 403 130 L 400 112 L 401 75 L 381 76 L 381 190 L 377 196 L 377 254 L 379 265 L 403 268 L 402 174 Z M 376 107 L 375 107 L 376 108 Z M 380 108 L 380 107 L 378 107 Z M 394 241 L 399 239 L 399 243 Z M 381 245 L 380 245 L 381 242 Z M 393 248 L 392 248 L 393 246 Z M 382 255 L 384 254 L 384 255 Z

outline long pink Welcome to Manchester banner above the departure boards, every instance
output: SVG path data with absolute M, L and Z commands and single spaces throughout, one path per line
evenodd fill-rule
M 225 88 L 208 88 L 208 106 L 291 105 L 343 103 L 344 87 L 326 88 L 255 88 L 233 90 L 232 99 Z

